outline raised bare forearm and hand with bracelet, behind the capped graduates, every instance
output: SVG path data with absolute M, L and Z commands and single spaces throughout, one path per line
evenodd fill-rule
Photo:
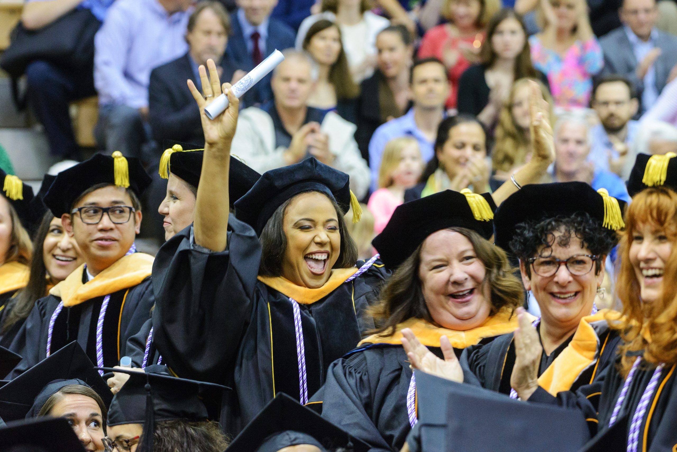
M 531 133 L 529 135 L 531 136 L 533 154 L 529 163 L 515 173 L 515 181 L 520 186 L 539 183 L 548 171 L 548 166 L 554 160 L 554 138 L 552 137 L 552 127 L 549 120 L 550 106 L 543 98 L 538 85 L 533 81 L 529 82 L 529 85 L 531 86 L 531 94 L 529 95 L 529 112 L 531 114 L 529 131 Z M 517 185 L 510 179 L 504 182 L 492 194 L 496 206 L 500 206 L 502 202 L 508 199 L 508 196 L 517 190 Z

